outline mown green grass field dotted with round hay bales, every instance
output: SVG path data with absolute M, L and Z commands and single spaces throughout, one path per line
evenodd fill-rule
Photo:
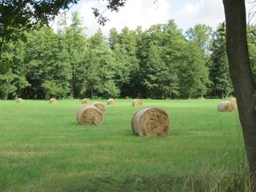
M 172 131 L 140 138 L 131 118 L 141 107 L 131 102 L 116 100 L 102 125 L 83 126 L 81 100 L 0 100 L 0 191 L 246 188 L 237 111 L 218 113 L 220 100 L 144 100 L 166 110 Z

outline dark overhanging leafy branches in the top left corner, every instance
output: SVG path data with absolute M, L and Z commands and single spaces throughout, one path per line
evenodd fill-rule
M 79 1 L 79 0 L 78 0 Z M 0 3 L 0 55 L 4 42 L 24 37 L 27 29 L 36 24 L 49 24 L 60 10 L 68 10 L 70 4 L 77 0 L 67 1 L 35 1 L 35 0 L 3 0 Z

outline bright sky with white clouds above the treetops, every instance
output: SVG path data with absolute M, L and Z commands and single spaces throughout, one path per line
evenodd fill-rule
M 92 13 L 92 7 L 104 11 L 104 4 L 106 1 L 81 0 L 72 6 L 68 15 L 74 11 L 80 13 L 88 36 L 93 35 L 99 28 L 108 36 L 111 28 L 121 31 L 125 26 L 129 29 L 142 26 L 143 29 L 147 29 L 153 24 L 164 24 L 170 19 L 173 19 L 183 31 L 198 23 L 216 29 L 218 24 L 225 20 L 222 0 L 158 0 L 156 4 L 154 0 L 127 0 L 118 13 L 104 12 L 109 21 L 105 26 L 100 26 Z

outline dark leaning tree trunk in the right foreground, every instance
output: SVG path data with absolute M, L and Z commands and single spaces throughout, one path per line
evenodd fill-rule
M 243 129 L 246 156 L 252 174 L 256 173 L 256 90 L 248 55 L 244 0 L 223 0 L 226 17 L 227 54 L 239 119 Z

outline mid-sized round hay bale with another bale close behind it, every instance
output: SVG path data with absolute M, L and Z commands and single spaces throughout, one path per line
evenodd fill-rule
M 92 105 L 81 107 L 77 111 L 77 123 L 82 125 L 99 125 L 102 124 L 103 114 L 100 109 Z

